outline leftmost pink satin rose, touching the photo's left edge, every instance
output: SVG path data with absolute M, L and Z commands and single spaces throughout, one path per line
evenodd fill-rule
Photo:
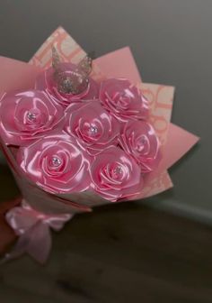
M 8 145 L 26 145 L 50 130 L 62 130 L 63 123 L 63 107 L 44 92 L 15 92 L 0 100 L 0 135 Z

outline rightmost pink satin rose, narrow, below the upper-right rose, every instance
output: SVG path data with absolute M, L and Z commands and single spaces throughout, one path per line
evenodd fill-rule
M 161 160 L 155 129 L 145 121 L 128 121 L 119 136 L 119 144 L 135 158 L 144 173 L 155 170 Z

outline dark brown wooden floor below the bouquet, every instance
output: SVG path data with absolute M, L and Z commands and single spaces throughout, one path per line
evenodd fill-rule
M 1 196 L 17 189 L 7 169 Z M 0 267 L 0 302 L 212 302 L 212 230 L 139 203 L 75 216 L 53 235 L 46 266 Z

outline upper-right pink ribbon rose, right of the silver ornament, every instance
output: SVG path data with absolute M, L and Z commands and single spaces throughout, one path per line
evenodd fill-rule
M 145 96 L 126 78 L 110 78 L 103 81 L 100 99 L 102 106 L 120 121 L 146 119 L 148 115 Z

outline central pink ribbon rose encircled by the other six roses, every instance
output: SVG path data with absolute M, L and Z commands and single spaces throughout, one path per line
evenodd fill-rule
M 118 144 L 119 122 L 99 101 L 73 104 L 66 108 L 65 131 L 91 155 Z

